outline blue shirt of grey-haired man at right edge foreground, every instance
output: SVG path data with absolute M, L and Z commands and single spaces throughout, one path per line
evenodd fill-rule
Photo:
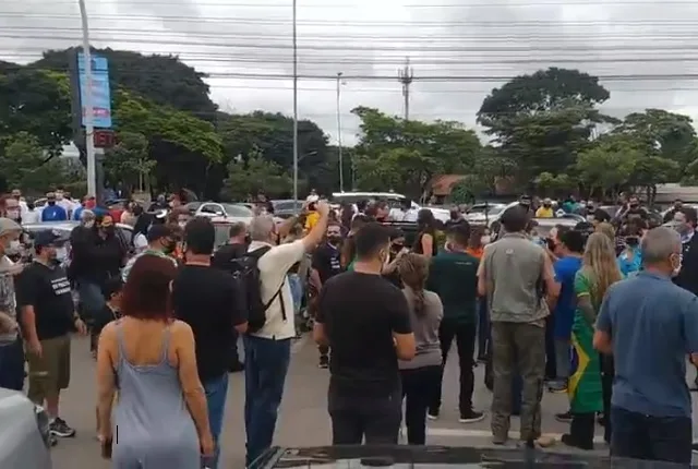
M 612 406 L 690 418 L 686 356 L 698 352 L 698 297 L 642 270 L 609 289 L 597 328 L 613 342 Z

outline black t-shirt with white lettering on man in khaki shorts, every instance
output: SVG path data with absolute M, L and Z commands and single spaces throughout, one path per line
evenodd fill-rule
M 65 269 L 33 262 L 24 268 L 15 287 L 17 308 L 33 306 L 39 340 L 75 330 L 75 304 Z

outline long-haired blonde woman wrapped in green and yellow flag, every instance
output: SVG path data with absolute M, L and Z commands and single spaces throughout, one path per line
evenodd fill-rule
M 582 267 L 575 277 L 577 309 L 571 327 L 571 371 L 568 385 L 569 410 L 573 420 L 569 433 L 563 435 L 566 445 L 593 449 L 595 413 L 603 410 L 601 364 L 593 349 L 593 325 L 603 297 L 623 275 L 615 260 L 615 246 L 604 233 L 589 236 Z

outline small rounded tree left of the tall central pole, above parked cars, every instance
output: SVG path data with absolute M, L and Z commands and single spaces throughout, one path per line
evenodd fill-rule
M 228 165 L 228 178 L 224 182 L 222 195 L 227 200 L 242 201 L 249 194 L 264 189 L 270 197 L 287 195 L 293 181 L 277 164 L 262 156 L 258 148 Z

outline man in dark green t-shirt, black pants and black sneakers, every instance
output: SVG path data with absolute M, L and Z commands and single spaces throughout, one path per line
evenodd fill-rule
M 434 291 L 444 305 L 444 318 L 438 328 L 443 356 L 442 380 L 448 350 L 456 339 L 460 368 L 458 408 L 461 423 L 479 422 L 484 413 L 472 408 L 474 388 L 473 357 L 478 332 L 478 260 L 466 252 L 470 241 L 470 225 L 462 221 L 448 232 L 448 251 L 442 251 L 431 261 L 426 289 Z M 438 418 L 441 410 L 441 381 L 438 392 L 429 406 L 428 417 Z

